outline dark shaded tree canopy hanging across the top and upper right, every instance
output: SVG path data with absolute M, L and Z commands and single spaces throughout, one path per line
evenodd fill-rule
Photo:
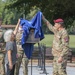
M 9 0 L 11 1 L 11 0 Z M 65 27 L 70 28 L 75 18 L 75 0 L 13 0 L 7 8 L 17 8 L 27 15 L 32 7 L 40 8 L 46 18 L 53 23 L 54 19 L 63 18 Z

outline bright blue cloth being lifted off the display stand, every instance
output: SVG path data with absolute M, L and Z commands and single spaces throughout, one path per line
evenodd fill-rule
M 29 29 L 30 28 L 35 29 L 35 31 L 34 31 L 35 38 L 40 38 L 40 40 L 42 40 L 44 38 L 44 34 L 42 31 L 41 18 L 42 18 L 42 13 L 39 11 L 34 16 L 34 18 L 32 18 L 30 21 L 25 20 L 25 19 L 20 19 L 21 20 L 20 25 L 22 26 L 23 31 L 24 31 L 22 34 L 22 38 L 21 38 L 21 44 L 22 44 L 22 48 L 24 49 L 24 52 L 25 52 L 28 59 L 31 58 L 33 48 L 34 48 L 33 47 L 34 44 L 26 43 L 26 40 L 29 35 Z

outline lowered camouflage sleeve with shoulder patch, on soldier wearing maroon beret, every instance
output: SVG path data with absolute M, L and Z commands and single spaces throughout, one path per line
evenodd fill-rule
M 61 53 L 61 56 L 67 56 L 68 53 L 69 53 L 69 35 L 67 33 L 64 33 L 62 35 L 62 48 L 63 48 L 63 51 Z

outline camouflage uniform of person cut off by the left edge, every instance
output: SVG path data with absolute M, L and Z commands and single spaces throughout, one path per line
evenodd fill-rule
M 0 75 L 5 75 L 3 30 L 0 28 Z

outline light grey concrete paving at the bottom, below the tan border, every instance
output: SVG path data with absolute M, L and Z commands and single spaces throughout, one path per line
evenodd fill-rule
M 52 75 L 53 67 L 52 64 L 48 64 L 46 66 L 46 72 L 44 73 L 41 68 L 39 68 L 37 65 L 33 65 L 32 72 L 31 72 L 31 65 L 28 65 L 28 75 Z M 19 75 L 23 75 L 23 69 L 22 66 L 20 68 Z M 67 75 L 75 75 L 75 67 L 67 66 Z

